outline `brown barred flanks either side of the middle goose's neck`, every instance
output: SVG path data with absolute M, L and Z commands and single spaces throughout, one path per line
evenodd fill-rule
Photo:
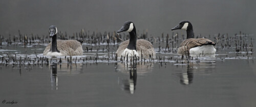
M 126 40 L 119 45 L 119 47 L 116 51 L 117 57 L 122 56 L 122 53 L 125 50 L 125 48 L 128 46 L 129 42 L 130 42 L 130 40 Z M 150 55 L 156 56 L 156 52 L 155 52 L 153 45 L 149 41 L 144 40 L 144 39 L 137 39 L 136 50 L 139 53 L 139 57 L 141 57 L 141 54 L 143 55 L 143 57 L 150 57 Z M 122 56 L 122 57 L 124 57 L 124 56 Z

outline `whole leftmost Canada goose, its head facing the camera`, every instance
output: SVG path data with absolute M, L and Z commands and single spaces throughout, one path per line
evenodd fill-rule
M 57 40 L 57 28 L 51 25 L 49 29 L 52 42 L 46 46 L 44 56 L 81 56 L 82 41 L 77 40 Z

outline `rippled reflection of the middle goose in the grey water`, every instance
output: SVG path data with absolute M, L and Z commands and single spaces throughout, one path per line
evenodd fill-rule
M 137 75 L 142 76 L 147 72 L 152 71 L 153 64 L 142 64 L 142 63 L 115 63 L 115 68 L 117 72 L 123 74 L 129 73 L 129 78 L 118 78 L 118 84 L 121 85 L 122 90 L 129 92 L 130 94 L 135 93 L 137 85 Z M 121 81 L 119 83 L 119 79 Z

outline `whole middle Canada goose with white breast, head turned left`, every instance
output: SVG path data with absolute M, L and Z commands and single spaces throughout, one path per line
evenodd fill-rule
M 155 49 L 149 41 L 144 39 L 137 40 L 136 28 L 132 21 L 126 21 L 117 33 L 125 31 L 129 32 L 130 40 L 126 40 L 119 45 L 116 51 L 117 57 L 122 56 L 127 58 L 127 55 L 128 57 L 135 55 L 141 57 L 142 55 L 144 58 L 148 58 L 150 56 L 156 56 Z

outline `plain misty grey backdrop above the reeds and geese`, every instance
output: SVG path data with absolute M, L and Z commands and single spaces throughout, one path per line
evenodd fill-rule
M 68 34 L 86 29 L 117 31 L 133 21 L 139 33 L 172 33 L 182 20 L 193 24 L 196 35 L 255 33 L 256 1 L 0 1 L 0 34 L 48 35 L 50 25 Z M 175 31 L 181 32 L 181 31 Z M 185 32 L 182 32 L 185 34 Z

